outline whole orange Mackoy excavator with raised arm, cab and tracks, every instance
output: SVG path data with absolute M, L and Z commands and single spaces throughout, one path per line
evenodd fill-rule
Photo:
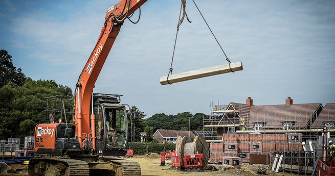
M 111 157 L 127 153 L 128 119 L 120 103 L 122 95 L 93 93 L 93 88 L 124 19 L 146 1 L 122 0 L 107 9 L 99 39 L 76 84 L 75 124 L 51 120 L 36 125 L 29 175 L 141 174 L 137 162 Z

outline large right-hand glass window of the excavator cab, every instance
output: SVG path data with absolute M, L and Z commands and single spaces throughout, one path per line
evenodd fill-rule
M 106 108 L 106 148 L 126 148 L 127 116 L 124 109 Z

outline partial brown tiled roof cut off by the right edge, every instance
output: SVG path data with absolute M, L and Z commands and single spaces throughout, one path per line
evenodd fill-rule
M 312 128 L 323 129 L 324 122 L 335 122 L 335 103 L 327 103 L 317 120 L 312 124 Z

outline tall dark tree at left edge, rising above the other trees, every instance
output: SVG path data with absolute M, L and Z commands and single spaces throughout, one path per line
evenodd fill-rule
M 0 87 L 9 82 L 21 87 L 26 81 L 26 76 L 21 72 L 21 68 L 16 68 L 12 61 L 12 56 L 6 50 L 0 50 Z

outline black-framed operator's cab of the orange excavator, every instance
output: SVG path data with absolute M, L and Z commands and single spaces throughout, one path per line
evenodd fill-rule
M 116 94 L 93 94 L 93 113 L 96 117 L 95 131 L 98 155 L 126 155 L 125 149 L 128 146 L 128 119 L 125 106 L 120 104 L 121 96 Z

